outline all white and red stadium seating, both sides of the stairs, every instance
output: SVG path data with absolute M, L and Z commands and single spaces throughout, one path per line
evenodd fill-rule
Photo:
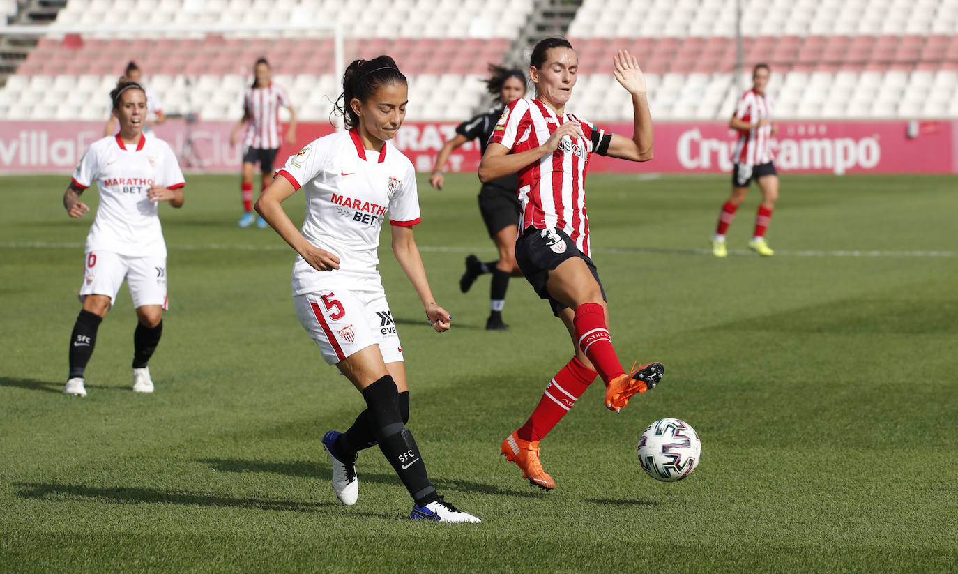
M 956 0 L 741 4 L 744 73 L 737 85 L 736 0 L 648 0 L 642 10 L 630 0 L 584 0 L 567 34 L 580 56 L 573 107 L 596 121 L 630 118 L 627 93 L 611 76 L 612 54 L 626 48 L 647 72 L 656 120 L 728 117 L 759 61 L 772 67 L 778 118 L 958 116 Z M 324 120 L 339 92 L 328 33 L 80 38 L 56 31 L 339 20 L 347 59 L 396 57 L 410 78 L 410 120 L 461 120 L 481 100 L 487 63 L 502 60 L 532 10 L 533 0 L 69 0 L 52 35 L 0 90 L 0 112 L 11 119 L 104 118 L 104 94 L 132 59 L 168 113 L 233 120 L 253 62 L 268 57 L 299 117 Z M 355 17 L 360 13 L 389 17 Z

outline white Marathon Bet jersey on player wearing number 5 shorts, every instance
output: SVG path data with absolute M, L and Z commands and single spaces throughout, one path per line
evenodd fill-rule
M 377 249 L 382 221 L 420 222 L 413 164 L 392 143 L 363 149 L 359 135 L 341 131 L 313 140 L 277 172 L 306 192 L 303 236 L 339 258 L 339 268 L 317 271 L 302 257 L 293 264 L 293 295 L 314 292 L 324 281 L 354 289 L 381 289 Z

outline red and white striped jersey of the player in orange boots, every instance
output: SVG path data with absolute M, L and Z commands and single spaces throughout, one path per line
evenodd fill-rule
M 559 126 L 568 121 L 582 124 L 585 138 L 562 138 L 558 149 L 518 172 L 517 193 L 522 205 L 519 229 L 561 229 L 576 242 L 582 253 L 588 255 L 585 171 L 589 157 L 605 131 L 570 113 L 557 118 L 545 103 L 520 98 L 503 110 L 489 141 L 520 153 L 545 143 Z

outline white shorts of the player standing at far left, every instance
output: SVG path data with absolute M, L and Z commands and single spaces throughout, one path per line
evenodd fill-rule
M 133 298 L 133 309 L 144 305 L 162 305 L 168 309 L 167 258 L 129 257 L 112 251 L 86 254 L 80 303 L 87 295 L 106 295 L 113 307 L 124 279 Z

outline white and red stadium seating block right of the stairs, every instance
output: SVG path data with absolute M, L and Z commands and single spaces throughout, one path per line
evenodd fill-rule
M 779 118 L 944 118 L 958 114 L 954 0 L 743 0 L 741 84 L 735 0 L 584 0 L 569 27 L 580 55 L 575 104 L 599 121 L 630 117 L 612 55 L 639 57 L 656 119 L 731 115 L 751 67 L 772 67 Z

